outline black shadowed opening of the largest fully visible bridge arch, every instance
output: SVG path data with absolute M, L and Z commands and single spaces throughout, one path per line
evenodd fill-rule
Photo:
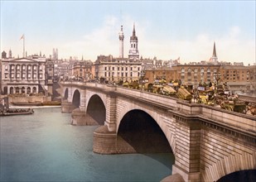
M 124 114 L 118 126 L 118 136 L 138 153 L 172 153 L 161 127 L 141 109 L 133 109 Z

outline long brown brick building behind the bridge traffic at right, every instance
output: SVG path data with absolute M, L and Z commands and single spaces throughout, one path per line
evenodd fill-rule
M 181 79 L 182 84 L 197 87 L 200 83 L 217 83 L 218 79 L 220 84 L 228 84 L 230 91 L 253 93 L 256 89 L 256 65 L 172 65 L 171 68 L 148 69 L 145 72 L 151 83 L 157 78 L 165 78 L 167 82 Z

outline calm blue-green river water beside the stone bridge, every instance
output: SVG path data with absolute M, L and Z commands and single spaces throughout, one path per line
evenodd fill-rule
M 60 108 L 0 117 L 0 181 L 160 181 L 172 154 L 100 155 L 95 126 L 71 126 Z

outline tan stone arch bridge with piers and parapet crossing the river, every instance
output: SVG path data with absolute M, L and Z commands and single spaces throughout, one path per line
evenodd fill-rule
M 252 115 L 107 84 L 62 82 L 61 86 L 62 112 L 72 113 L 72 124 L 101 125 L 94 132 L 94 152 L 138 152 L 122 136 L 123 128 L 136 130 L 137 123 L 128 127 L 122 123 L 129 114 L 142 112 L 157 123 L 171 146 L 172 175 L 185 181 L 217 181 L 236 171 L 256 169 Z

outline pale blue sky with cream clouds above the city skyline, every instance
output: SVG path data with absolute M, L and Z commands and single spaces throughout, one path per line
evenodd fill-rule
M 220 61 L 255 59 L 254 1 L 6 1 L 1 6 L 1 52 L 22 57 L 70 56 L 97 60 L 119 56 L 123 25 L 124 57 L 128 57 L 135 25 L 142 58 L 176 60 L 181 64 L 210 60 L 215 42 Z

